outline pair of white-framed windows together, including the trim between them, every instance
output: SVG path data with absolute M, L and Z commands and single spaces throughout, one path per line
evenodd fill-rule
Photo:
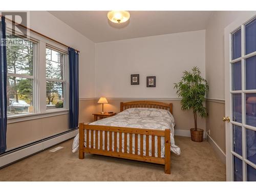
M 30 35 L 14 35 L 7 28 L 8 119 L 68 111 L 67 48 Z

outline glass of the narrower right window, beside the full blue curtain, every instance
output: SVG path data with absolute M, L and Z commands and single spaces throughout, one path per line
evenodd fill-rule
M 67 55 L 46 48 L 46 109 L 65 108 Z

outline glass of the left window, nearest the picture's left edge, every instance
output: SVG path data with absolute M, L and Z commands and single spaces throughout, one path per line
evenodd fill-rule
M 34 112 L 33 69 L 35 43 L 27 39 L 6 35 L 7 38 L 7 114 Z

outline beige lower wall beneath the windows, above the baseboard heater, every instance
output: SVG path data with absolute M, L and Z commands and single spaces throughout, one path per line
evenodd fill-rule
M 69 130 L 69 115 L 7 124 L 7 150 Z

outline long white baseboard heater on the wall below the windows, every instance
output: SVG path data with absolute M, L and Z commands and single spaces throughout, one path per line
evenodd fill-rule
M 78 130 L 74 130 L 59 136 L 56 136 L 54 138 L 42 141 L 40 143 L 33 144 L 31 146 L 22 148 L 18 151 L 7 153 L 6 155 L 3 155 L 0 157 L 0 167 L 6 166 L 8 164 L 11 164 L 15 161 L 18 161 L 20 159 L 26 158 L 28 156 L 31 156 L 35 153 L 38 153 L 40 151 L 45 150 L 46 148 L 49 148 L 53 145 L 56 145 L 62 141 L 66 141 L 72 137 L 75 137 L 78 134 Z

